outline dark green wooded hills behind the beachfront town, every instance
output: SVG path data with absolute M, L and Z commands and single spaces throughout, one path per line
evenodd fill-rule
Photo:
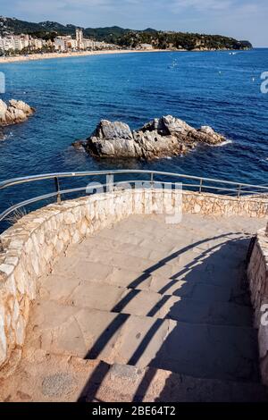
M 0 35 L 9 33 L 29 34 L 36 38 L 51 39 L 57 35 L 74 35 L 74 25 L 62 25 L 53 21 L 32 23 L 18 19 L 0 17 Z M 167 49 L 246 49 L 252 45 L 248 41 L 238 41 L 221 35 L 205 35 L 183 32 L 165 32 L 155 29 L 132 30 L 117 26 L 111 28 L 86 28 L 87 38 L 116 44 L 121 47 L 136 48 L 140 44 L 151 44 L 155 48 Z

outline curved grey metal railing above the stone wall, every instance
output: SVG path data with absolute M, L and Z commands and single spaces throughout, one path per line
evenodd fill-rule
M 123 181 L 114 182 L 111 181 L 114 179 L 114 176 L 120 174 L 138 174 L 138 175 L 149 175 L 149 180 L 128 180 L 125 179 Z M 33 175 L 27 176 L 22 178 L 14 178 L 7 181 L 0 182 L 0 190 L 7 189 L 16 185 L 25 184 L 29 182 L 36 182 L 36 181 L 44 181 L 44 180 L 54 180 L 54 192 L 47 193 L 42 196 L 29 198 L 25 201 L 21 201 L 21 203 L 15 204 L 13 206 L 8 207 L 4 210 L 3 213 L 0 214 L 0 222 L 2 222 L 9 214 L 12 214 L 14 211 L 20 209 L 21 207 L 29 206 L 31 204 L 37 203 L 42 200 L 46 200 L 49 198 L 56 197 L 56 201 L 58 204 L 62 202 L 63 195 L 71 194 L 71 193 L 79 193 L 82 191 L 86 191 L 88 189 L 88 184 L 85 187 L 80 188 L 71 188 L 71 189 L 61 189 L 60 188 L 60 179 L 66 178 L 77 178 L 77 177 L 96 177 L 96 176 L 104 176 L 106 175 L 108 178 L 108 182 L 103 184 L 103 187 L 111 189 L 111 182 L 113 185 L 116 186 L 121 182 L 128 182 L 128 183 L 135 183 L 135 182 L 149 182 L 150 186 L 154 186 L 156 183 L 158 184 L 170 184 L 174 185 L 176 182 L 170 181 L 172 178 L 177 180 L 177 183 L 180 182 L 182 187 L 185 189 L 193 189 L 197 190 L 197 192 L 210 192 L 214 191 L 216 194 L 228 195 L 230 197 L 237 197 L 238 199 L 242 196 L 256 196 L 260 197 L 261 195 L 267 194 L 268 199 L 268 186 L 264 185 L 252 185 L 246 184 L 243 182 L 233 182 L 233 181 L 222 181 L 222 180 L 215 180 L 212 178 L 201 178 L 197 176 L 185 175 L 180 173 L 172 173 L 172 172 L 159 172 L 159 171 L 142 171 L 142 170 L 115 170 L 115 171 L 98 171 L 98 172 L 59 172 L 59 173 L 46 173 L 41 175 Z M 168 178 L 169 181 L 161 181 L 160 178 Z M 157 178 L 157 180 L 156 180 Z M 184 182 L 183 182 L 184 181 Z M 186 182 L 187 181 L 187 182 Z M 190 181 L 193 181 L 191 183 Z M 213 184 L 213 185 L 207 185 Z M 221 186 L 222 185 L 222 186 Z

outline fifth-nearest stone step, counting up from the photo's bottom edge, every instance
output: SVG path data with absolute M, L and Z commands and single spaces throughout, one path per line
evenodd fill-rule
M 250 239 L 246 239 L 243 245 L 232 244 L 231 239 L 233 238 L 231 235 L 227 238 L 224 236 L 221 239 L 213 239 L 208 242 L 202 240 L 193 242 L 193 239 L 187 238 L 187 234 L 184 233 L 183 243 L 178 244 L 178 239 L 174 235 L 172 235 L 172 242 L 167 243 L 167 234 L 164 232 L 163 240 L 157 242 L 154 238 L 145 238 L 145 233 L 142 231 L 140 235 L 143 241 L 133 244 L 118 240 L 120 232 L 115 231 L 114 228 L 113 239 L 103 238 L 103 234 L 104 231 L 100 231 L 98 235 L 86 239 L 83 243 L 83 248 L 73 249 L 71 252 L 72 256 L 82 256 L 85 260 L 96 262 L 99 262 L 104 254 L 105 259 L 108 258 L 112 262 L 122 259 L 123 256 L 130 256 L 131 258 L 140 258 L 147 267 L 154 265 L 154 263 L 163 263 L 163 265 L 177 265 L 181 268 L 189 262 L 194 265 L 202 262 L 202 265 L 206 266 L 211 264 L 209 259 L 213 257 L 213 264 L 216 262 L 224 263 L 224 261 L 228 260 L 229 267 L 226 266 L 226 269 L 238 269 L 245 260 L 245 256 L 247 256 L 247 248 L 250 242 Z M 135 232 L 135 234 L 137 235 L 138 232 Z M 127 235 L 127 239 L 130 239 L 131 233 Z M 185 240 L 187 239 L 188 245 L 185 246 Z M 111 254 L 112 249 L 113 255 Z

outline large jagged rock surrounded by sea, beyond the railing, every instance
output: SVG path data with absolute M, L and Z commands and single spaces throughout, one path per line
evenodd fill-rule
M 139 130 L 131 131 L 124 122 L 102 120 L 84 147 L 98 157 L 151 160 L 181 155 L 197 144 L 218 145 L 225 138 L 211 127 L 195 129 L 171 115 L 155 118 Z

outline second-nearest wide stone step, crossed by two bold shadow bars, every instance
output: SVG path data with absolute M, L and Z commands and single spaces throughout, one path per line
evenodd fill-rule
M 28 345 L 36 349 L 197 378 L 259 381 L 251 328 L 180 323 L 52 301 L 36 305 L 30 318 Z

